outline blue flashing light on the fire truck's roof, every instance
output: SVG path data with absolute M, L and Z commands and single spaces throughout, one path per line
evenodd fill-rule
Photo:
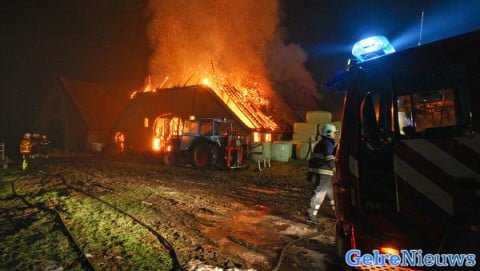
M 395 52 L 395 48 L 390 44 L 385 36 L 373 36 L 353 45 L 352 55 L 360 62 L 388 55 Z

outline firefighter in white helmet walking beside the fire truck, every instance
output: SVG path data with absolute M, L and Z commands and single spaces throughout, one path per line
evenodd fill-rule
M 329 198 L 329 203 L 334 209 L 332 178 L 335 172 L 335 132 L 337 128 L 332 124 L 322 126 L 320 142 L 313 149 L 312 156 L 308 161 L 307 180 L 312 181 L 315 178 L 316 188 L 308 209 L 309 220 L 317 223 L 317 214 L 320 210 L 325 197 Z

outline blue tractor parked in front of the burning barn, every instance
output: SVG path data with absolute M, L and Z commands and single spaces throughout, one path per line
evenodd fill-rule
M 245 145 L 226 119 L 185 120 L 181 135 L 166 145 L 166 165 L 190 164 L 196 168 L 242 168 Z

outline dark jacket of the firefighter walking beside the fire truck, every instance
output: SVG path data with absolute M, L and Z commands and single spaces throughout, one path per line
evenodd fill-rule
M 335 140 L 322 136 L 308 161 L 308 172 L 333 176 L 335 171 Z

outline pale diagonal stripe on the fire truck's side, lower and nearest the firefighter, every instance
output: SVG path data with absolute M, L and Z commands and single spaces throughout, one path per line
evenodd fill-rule
M 430 179 L 395 155 L 395 174 L 426 196 L 445 212 L 453 215 L 453 197 Z

